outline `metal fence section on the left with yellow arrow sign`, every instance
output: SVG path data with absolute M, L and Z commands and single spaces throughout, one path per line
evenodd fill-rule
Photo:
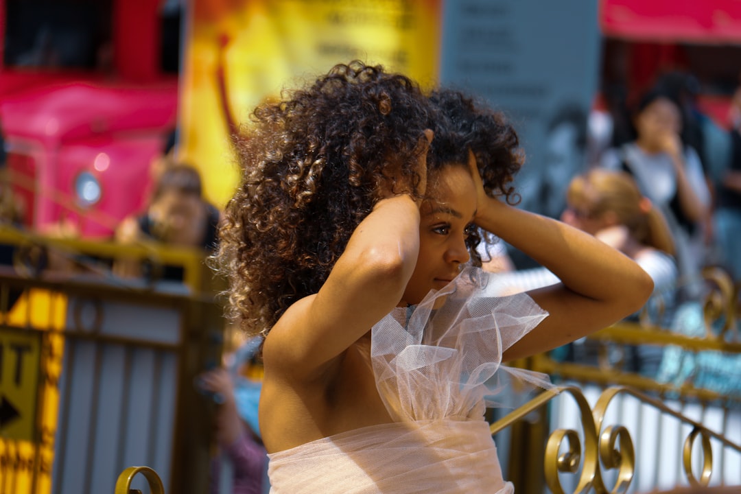
M 0 494 L 111 493 L 133 464 L 156 468 L 167 492 L 207 492 L 211 407 L 193 380 L 219 364 L 224 320 L 202 254 L 0 240 L 16 248 L 16 266 L 0 267 Z M 35 249 L 93 267 L 124 254 L 179 263 L 185 283 L 49 272 L 24 262 Z

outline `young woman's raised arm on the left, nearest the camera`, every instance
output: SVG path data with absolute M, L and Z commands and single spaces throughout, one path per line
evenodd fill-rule
M 263 354 L 310 378 L 371 330 L 402 299 L 419 254 L 419 201 L 426 187 L 420 140 L 419 184 L 379 201 L 353 231 L 319 293 L 297 301 L 265 339 Z M 424 143 L 422 143 L 424 141 Z

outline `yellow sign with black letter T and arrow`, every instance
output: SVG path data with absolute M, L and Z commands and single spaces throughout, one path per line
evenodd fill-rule
M 0 330 L 0 438 L 33 441 L 41 334 Z

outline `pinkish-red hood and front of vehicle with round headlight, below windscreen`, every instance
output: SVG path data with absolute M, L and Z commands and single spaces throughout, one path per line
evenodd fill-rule
M 176 84 L 124 87 L 75 81 L 6 96 L 0 121 L 28 226 L 72 221 L 110 236 L 144 205 L 149 166 L 175 125 Z

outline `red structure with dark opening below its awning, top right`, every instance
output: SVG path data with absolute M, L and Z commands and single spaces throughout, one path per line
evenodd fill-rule
M 741 84 L 741 2 L 737 0 L 602 0 L 607 39 L 602 78 L 626 85 L 634 99 L 671 70 L 697 76 L 698 103 L 721 126 Z

